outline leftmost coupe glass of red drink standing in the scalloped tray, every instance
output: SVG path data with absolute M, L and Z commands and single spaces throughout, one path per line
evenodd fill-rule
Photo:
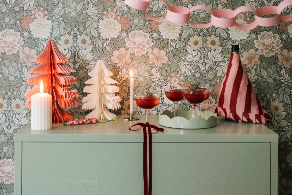
M 185 99 L 184 89 L 180 87 L 166 87 L 164 88 L 166 97 L 173 102 L 174 117 L 176 117 L 176 107 L 178 102 Z

